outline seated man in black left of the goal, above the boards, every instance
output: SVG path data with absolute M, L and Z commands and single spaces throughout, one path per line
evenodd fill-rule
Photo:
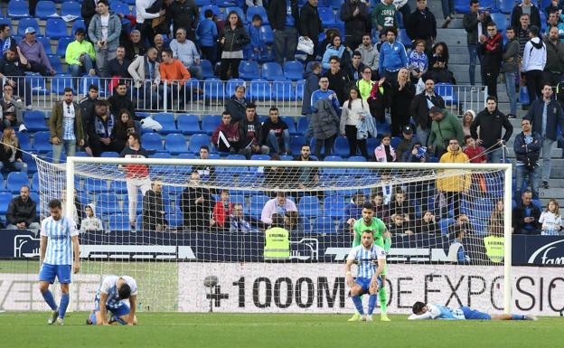
M 32 230 L 33 233 L 41 228 L 36 216 L 36 203 L 29 196 L 29 186 L 20 189 L 20 195 L 12 199 L 6 212 L 8 230 Z

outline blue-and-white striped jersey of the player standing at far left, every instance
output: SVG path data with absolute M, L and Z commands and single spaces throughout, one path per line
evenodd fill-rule
M 63 216 L 59 221 L 54 221 L 50 216 L 42 221 L 41 235 L 47 237 L 47 250 L 43 263 L 72 265 L 71 237 L 79 235 L 74 220 Z

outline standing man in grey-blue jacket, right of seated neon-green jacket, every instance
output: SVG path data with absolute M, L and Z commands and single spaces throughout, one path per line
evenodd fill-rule
M 116 58 L 121 21 L 117 14 L 109 13 L 108 0 L 99 0 L 96 8 L 98 14 L 94 14 L 89 24 L 89 38 L 90 42 L 94 43 L 98 74 L 108 78 L 110 77 L 108 61 Z

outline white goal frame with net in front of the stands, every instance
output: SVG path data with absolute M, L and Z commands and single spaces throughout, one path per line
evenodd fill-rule
M 388 313 L 509 310 L 510 165 L 68 161 L 38 172 L 43 217 L 51 199 L 75 202 L 75 308 L 89 309 L 100 277 L 126 274 L 141 311 L 352 313 L 348 222 L 371 202 L 392 235 Z

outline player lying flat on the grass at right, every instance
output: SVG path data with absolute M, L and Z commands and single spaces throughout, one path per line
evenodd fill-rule
M 537 317 L 533 315 L 489 315 L 468 306 L 451 309 L 437 304 L 426 305 L 423 302 L 416 302 L 411 309 L 413 314 L 409 315 L 409 320 L 537 320 Z

